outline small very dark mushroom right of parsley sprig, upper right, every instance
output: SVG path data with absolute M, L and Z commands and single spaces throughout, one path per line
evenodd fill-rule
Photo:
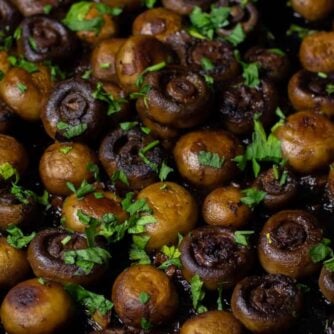
M 249 63 L 257 63 L 260 66 L 260 73 L 269 80 L 280 82 L 289 74 L 289 59 L 279 49 L 255 46 L 246 52 L 244 58 Z

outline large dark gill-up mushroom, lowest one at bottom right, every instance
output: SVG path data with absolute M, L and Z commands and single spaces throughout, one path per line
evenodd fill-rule
M 284 275 L 250 276 L 234 288 L 234 316 L 252 333 L 285 333 L 302 308 L 296 281 Z

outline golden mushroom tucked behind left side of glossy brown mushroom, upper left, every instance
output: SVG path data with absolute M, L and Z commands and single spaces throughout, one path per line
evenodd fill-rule
M 125 38 L 110 38 L 101 41 L 94 47 L 90 64 L 96 79 L 117 82 L 116 54 L 125 41 Z

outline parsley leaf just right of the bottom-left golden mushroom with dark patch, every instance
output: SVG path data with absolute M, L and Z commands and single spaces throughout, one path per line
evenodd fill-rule
M 106 315 L 114 306 L 113 303 L 106 299 L 103 295 L 88 291 L 81 285 L 71 283 L 66 284 L 65 290 L 77 303 L 85 307 L 91 315 L 95 312 Z

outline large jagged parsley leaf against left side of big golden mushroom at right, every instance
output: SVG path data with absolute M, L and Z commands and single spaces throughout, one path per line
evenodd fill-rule
M 280 124 L 281 122 L 277 123 L 274 128 Z M 246 168 L 248 161 L 251 161 L 255 177 L 260 173 L 260 162 L 284 163 L 281 142 L 273 133 L 270 133 L 268 137 L 266 136 L 263 125 L 258 120 L 258 115 L 254 117 L 252 142 L 247 145 L 245 153 L 235 157 L 234 161 L 241 170 Z

